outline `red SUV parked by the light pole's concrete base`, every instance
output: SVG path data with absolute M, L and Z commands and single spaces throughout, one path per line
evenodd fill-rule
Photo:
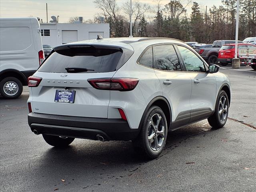
M 235 57 L 235 45 L 236 44 L 226 44 L 222 46 L 219 50 L 218 55 L 218 63 L 226 66 L 228 63 L 232 62 L 232 58 Z M 245 43 L 238 43 L 238 49 L 242 47 L 250 48 L 250 47 L 256 47 L 252 44 L 245 44 Z

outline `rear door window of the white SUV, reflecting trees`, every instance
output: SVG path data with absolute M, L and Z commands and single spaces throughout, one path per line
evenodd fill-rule
M 173 45 L 153 47 L 154 68 L 168 71 L 181 71 L 180 62 Z

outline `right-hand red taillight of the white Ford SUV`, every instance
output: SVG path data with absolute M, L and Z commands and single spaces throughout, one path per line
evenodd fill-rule
M 102 90 L 131 91 L 137 86 L 137 78 L 99 78 L 87 80 L 94 88 Z

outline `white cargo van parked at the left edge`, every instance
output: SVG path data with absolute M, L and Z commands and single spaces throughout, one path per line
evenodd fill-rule
M 43 60 L 37 18 L 0 18 L 0 94 L 4 98 L 20 96 L 27 78 Z

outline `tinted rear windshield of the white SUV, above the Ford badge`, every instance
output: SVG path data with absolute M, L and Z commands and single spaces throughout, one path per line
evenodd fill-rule
M 65 68 L 86 68 L 88 71 L 83 73 L 112 72 L 118 67 L 123 54 L 120 48 L 104 48 L 103 46 L 101 48 L 67 46 L 57 49 L 48 56 L 38 71 L 67 73 Z

